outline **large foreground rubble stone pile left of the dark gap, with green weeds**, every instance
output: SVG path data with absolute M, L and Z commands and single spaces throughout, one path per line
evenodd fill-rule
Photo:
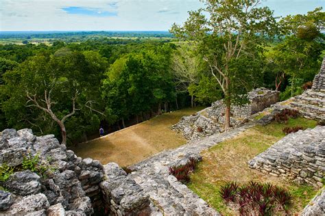
M 55 169 L 47 170 L 42 178 L 30 170 L 15 172 L 1 182 L 10 192 L 0 192 L 0 213 L 45 215 L 53 210 L 72 215 L 93 213 L 91 200 L 78 179 L 84 164 L 59 144 L 54 135 L 36 137 L 30 129 L 6 129 L 0 135 L 0 146 L 1 165 L 20 166 L 24 157 L 38 154 L 42 163 Z

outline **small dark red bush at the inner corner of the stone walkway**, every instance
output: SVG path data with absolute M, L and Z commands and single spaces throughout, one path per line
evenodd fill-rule
M 184 165 L 169 167 L 169 174 L 175 176 L 183 184 L 189 183 L 191 180 L 189 175 L 195 170 L 197 162 L 197 159 L 190 158 Z

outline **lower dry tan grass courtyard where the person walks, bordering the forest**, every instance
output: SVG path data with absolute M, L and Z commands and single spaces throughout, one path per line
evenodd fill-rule
M 182 116 L 189 116 L 201 109 L 204 107 L 165 113 L 105 137 L 71 147 L 71 150 L 78 157 L 91 157 L 102 164 L 115 162 L 121 166 L 131 165 L 163 150 L 184 145 L 186 139 L 180 133 L 171 131 L 170 126 L 176 124 Z

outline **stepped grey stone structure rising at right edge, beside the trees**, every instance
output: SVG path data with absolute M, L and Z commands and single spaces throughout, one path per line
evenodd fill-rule
M 296 96 L 290 105 L 306 118 L 325 121 L 325 57 L 320 72 L 313 80 L 311 90 Z

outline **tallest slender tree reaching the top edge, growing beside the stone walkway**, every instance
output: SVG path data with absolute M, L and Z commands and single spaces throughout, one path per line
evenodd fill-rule
M 189 12 L 184 25 L 174 24 L 171 33 L 178 38 L 193 42 L 197 51 L 207 62 L 210 72 L 224 92 L 225 131 L 230 128 L 230 107 L 241 100 L 245 85 L 250 84 L 240 71 L 232 70 L 235 62 L 254 58 L 252 53 L 259 44 L 261 37 L 273 35 L 276 20 L 273 12 L 267 7 L 260 7 L 261 0 L 205 0 L 205 8 Z M 206 17 L 205 14 L 208 14 Z M 250 57 L 247 57 L 250 56 Z M 249 66 L 249 63 L 246 64 Z M 241 75 L 240 77 L 236 77 Z M 245 78 L 247 80 L 247 78 Z M 245 85 L 243 85 L 245 84 Z M 248 87 L 246 88 L 246 90 Z

